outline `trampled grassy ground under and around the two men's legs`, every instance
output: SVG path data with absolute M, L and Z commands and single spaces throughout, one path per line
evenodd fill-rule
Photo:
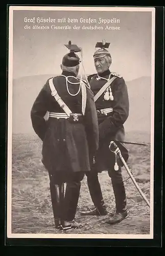
M 79 211 L 93 207 L 86 177 L 81 185 L 76 221 L 81 229 L 59 231 L 54 227 L 49 176 L 41 163 L 41 141 L 36 136 L 13 135 L 12 140 L 12 233 L 149 234 L 150 209 L 123 167 L 129 217 L 117 225 L 104 223 L 107 217 L 81 217 Z M 150 144 L 127 144 L 129 166 L 150 201 Z M 108 210 L 115 210 L 107 172 L 99 174 Z

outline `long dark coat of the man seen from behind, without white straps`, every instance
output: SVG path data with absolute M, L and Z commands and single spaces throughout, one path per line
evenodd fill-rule
M 63 72 L 65 76 L 73 73 Z M 69 78 L 71 82 L 79 82 L 76 77 Z M 53 78 L 54 86 L 73 113 L 82 114 L 81 90 L 77 96 L 70 96 L 66 89 L 63 76 Z M 68 83 L 69 92 L 76 94 L 79 84 Z M 99 142 L 98 118 L 93 93 L 86 88 L 86 111 L 81 123 L 70 122 L 64 118 L 49 118 L 45 121 L 46 112 L 64 113 L 51 95 L 49 80 L 41 89 L 31 110 L 31 120 L 34 131 L 43 141 L 42 162 L 50 174 L 60 172 L 87 172 L 90 170 L 90 160 L 95 154 Z

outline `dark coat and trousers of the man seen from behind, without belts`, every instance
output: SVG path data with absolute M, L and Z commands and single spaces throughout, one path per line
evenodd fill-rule
M 76 96 L 70 96 L 65 77 L 74 76 L 69 78 L 73 83 L 79 82 L 79 79 L 74 73 L 67 71 L 63 71 L 62 75 L 53 78 L 59 96 L 73 113 L 82 114 L 81 90 Z M 68 89 L 71 94 L 76 94 L 79 84 L 68 83 Z M 51 94 L 49 80 L 33 104 L 31 119 L 36 134 L 43 141 L 42 162 L 50 175 L 54 218 L 59 218 L 55 184 L 66 182 L 64 207 L 60 217 L 65 221 L 72 221 L 76 214 L 80 182 L 84 173 L 90 171 L 90 160 L 98 148 L 98 118 L 93 93 L 86 88 L 86 110 L 84 116 L 79 117 L 79 121 L 53 117 L 45 121 L 47 111 L 64 113 Z

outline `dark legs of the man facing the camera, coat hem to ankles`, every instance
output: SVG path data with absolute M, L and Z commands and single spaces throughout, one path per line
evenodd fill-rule
M 119 166 L 119 170 L 117 171 L 114 169 L 109 170 L 108 175 L 112 182 L 116 212 L 124 212 L 127 208 L 127 202 L 121 167 Z M 95 172 L 95 170 L 92 170 L 91 172 L 86 173 L 86 176 L 92 202 L 95 207 L 101 211 L 102 207 L 104 207 L 104 200 L 98 179 L 98 173 Z

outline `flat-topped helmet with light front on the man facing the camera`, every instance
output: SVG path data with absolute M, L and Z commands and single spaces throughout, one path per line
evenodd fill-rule
M 110 42 L 105 42 L 105 40 L 102 40 L 102 42 L 97 42 L 95 48 L 100 48 L 98 49 L 94 54 L 93 54 L 93 58 L 101 58 L 101 57 L 105 57 L 105 56 L 109 56 L 111 58 L 110 53 L 108 52 L 108 50 L 106 50 L 106 48 L 109 48 Z

